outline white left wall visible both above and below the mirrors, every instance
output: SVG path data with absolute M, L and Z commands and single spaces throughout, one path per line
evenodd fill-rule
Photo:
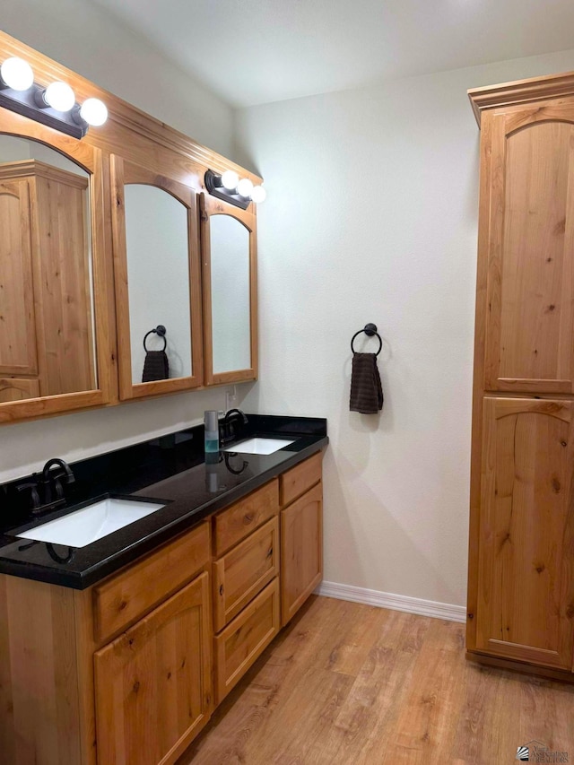
M 4 0 L 2 29 L 210 148 L 230 156 L 232 112 L 97 6 L 78 0 Z M 241 389 L 238 387 L 238 403 Z M 225 388 L 0 427 L 0 482 L 50 456 L 100 454 L 201 422 Z

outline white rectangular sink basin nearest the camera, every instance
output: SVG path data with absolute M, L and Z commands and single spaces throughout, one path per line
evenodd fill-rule
M 65 544 L 68 547 L 85 547 L 164 507 L 156 502 L 108 497 L 17 536 L 38 542 Z

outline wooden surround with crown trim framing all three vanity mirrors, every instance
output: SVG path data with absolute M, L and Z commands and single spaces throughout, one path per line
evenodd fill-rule
M 123 157 L 152 170 L 161 177 L 167 177 L 171 182 L 186 186 L 195 195 L 205 190 L 204 175 L 208 169 L 221 174 L 225 170 L 234 170 L 241 178 L 250 178 L 254 184 L 260 184 L 262 178 L 255 173 L 245 170 L 235 162 L 228 160 L 217 152 L 196 143 L 187 135 L 179 133 L 167 126 L 160 119 L 136 109 L 133 105 L 117 98 L 94 83 L 76 74 L 65 66 L 44 56 L 34 48 L 30 48 L 18 39 L 14 39 L 0 30 L 0 61 L 17 56 L 29 62 L 34 71 L 36 83 L 48 85 L 55 80 L 69 83 L 76 94 L 78 102 L 95 97 L 103 100 L 109 109 L 109 119 L 106 125 L 91 128 L 81 140 L 59 133 L 57 130 L 40 125 L 37 122 L 21 117 L 8 109 L 0 108 L 0 130 L 6 134 L 31 138 L 44 143 L 56 151 L 62 152 L 71 160 L 76 161 L 91 172 L 91 233 L 92 258 L 94 279 L 94 310 L 95 310 L 95 342 L 97 351 L 98 389 L 86 392 L 47 396 L 44 398 L 25 399 L 11 403 L 0 404 L 0 425 L 9 422 L 24 422 L 39 417 L 78 412 L 80 410 L 115 405 L 120 403 L 118 396 L 118 355 L 117 343 L 122 342 L 123 330 L 117 326 L 116 300 L 114 281 L 114 261 L 112 254 L 112 211 L 115 199 L 111 188 L 110 158 L 113 154 Z M 200 200 L 203 195 L 200 196 Z M 197 201 L 197 200 L 196 200 Z M 209 202 L 213 202 L 212 199 Z M 211 209 L 211 205 L 208 204 Z M 224 211 L 242 219 L 239 208 L 223 204 Z M 228 209 L 229 208 L 229 209 Z M 204 384 L 216 385 L 226 382 L 236 382 L 257 378 L 257 264 L 255 247 L 255 205 L 250 204 L 245 216 L 248 221 L 251 247 L 251 360 L 252 369 L 239 370 L 222 375 L 213 375 L 211 371 L 211 302 L 204 308 L 204 352 L 209 356 L 210 369 Z M 195 219 L 197 237 L 197 218 Z M 202 229 L 204 226 L 201 227 Z M 209 230 L 207 229 L 207 236 Z M 198 239 L 196 239 L 198 241 Z M 209 239 L 207 239 L 209 244 Z M 201 266 L 200 266 L 201 270 Z M 209 272 L 203 274 L 203 279 L 211 278 Z M 203 282 L 203 294 L 209 296 L 209 290 Z M 201 290 L 200 290 L 201 300 Z M 195 328 L 201 324 L 195 322 Z M 119 335 L 119 341 L 117 339 Z M 207 339 L 208 338 L 208 339 Z M 196 351 L 201 349 L 200 341 L 193 337 Z M 197 387 L 200 387 L 201 367 L 193 361 L 194 377 Z M 181 379 L 181 378 L 180 378 Z M 187 379 L 187 378 L 184 378 Z M 131 379 L 130 379 L 131 385 Z M 172 381 L 168 380 L 171 384 Z M 187 380 L 186 387 L 191 387 Z M 143 384 L 142 392 L 137 392 L 135 398 L 152 397 L 162 393 L 161 389 L 153 391 Z M 195 386 L 195 383 L 192 383 Z M 169 391 L 175 392 L 176 387 Z M 130 396 L 134 398 L 134 396 Z

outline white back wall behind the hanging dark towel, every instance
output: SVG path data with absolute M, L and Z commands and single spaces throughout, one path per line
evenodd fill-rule
M 237 115 L 268 191 L 245 406 L 328 419 L 327 581 L 465 603 L 479 146 L 466 89 L 569 69 L 574 51 Z M 349 412 L 349 342 L 367 322 L 384 340 L 380 417 Z

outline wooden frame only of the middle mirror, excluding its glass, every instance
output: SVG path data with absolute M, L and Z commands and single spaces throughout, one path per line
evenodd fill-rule
M 195 191 L 178 181 L 154 173 L 141 165 L 111 156 L 113 196 L 114 274 L 117 306 L 117 348 L 119 359 L 119 397 L 122 400 L 199 387 L 204 381 L 201 328 L 201 266 L 198 251 L 197 201 Z M 129 285 L 127 283 L 126 202 L 124 188 L 143 184 L 161 188 L 187 208 L 187 252 L 189 265 L 189 321 L 193 374 L 181 378 L 134 383 L 130 340 Z

